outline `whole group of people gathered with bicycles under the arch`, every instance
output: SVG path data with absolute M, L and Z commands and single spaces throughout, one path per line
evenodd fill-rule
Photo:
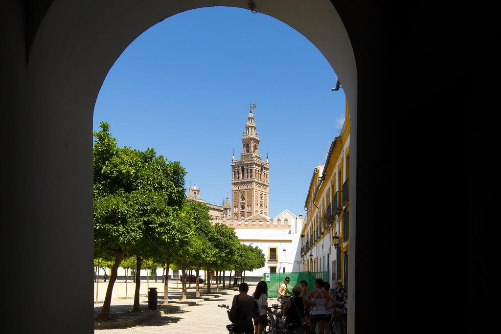
M 308 290 L 308 282 L 302 280 L 289 291 L 290 278 L 286 277 L 280 286 L 278 300 L 284 305 L 282 312 L 274 312 L 268 306 L 268 284 L 260 281 L 253 295 L 248 295 L 247 283 L 239 285 L 239 294 L 233 297 L 233 305 L 238 305 L 241 320 L 234 323 L 236 334 L 262 334 L 268 324 L 267 312 L 277 316 L 286 316 L 286 324 L 296 324 L 301 330 L 301 319 L 310 321 L 310 329 L 315 330 L 318 324 L 318 334 L 329 334 L 329 321 L 334 306 L 344 300 L 345 289 L 341 280 L 336 281 L 336 291 L 332 295 L 330 284 L 323 279 L 315 280 L 315 287 Z M 259 315 L 252 318 L 254 302 L 258 304 Z

